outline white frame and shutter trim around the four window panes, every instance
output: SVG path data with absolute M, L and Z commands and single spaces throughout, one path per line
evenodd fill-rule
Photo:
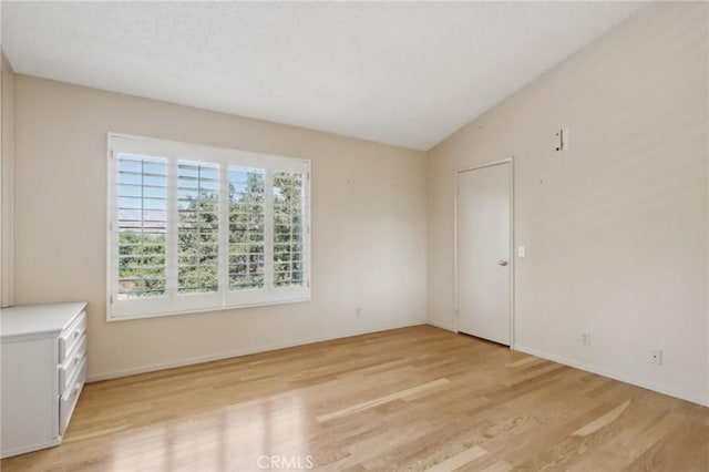
M 177 295 L 172 287 L 168 288 L 168 296 L 160 298 L 144 298 L 132 300 L 117 300 L 117 242 L 114 236 L 113 228 L 117 225 L 117 207 L 114 207 L 114 198 L 116 198 L 117 186 L 117 158 L 119 153 L 131 153 L 135 155 L 160 156 L 168 160 L 168 166 L 174 172 L 174 166 L 178 160 L 202 161 L 217 163 L 220 168 L 229 165 L 240 167 L 265 168 L 267 175 L 266 198 L 273 202 L 273 195 L 268 185 L 270 179 L 273 184 L 274 172 L 295 172 L 306 175 L 305 179 L 305 240 L 304 240 L 304 277 L 305 285 L 301 287 L 274 287 L 273 276 L 270 284 L 267 280 L 266 288 L 263 290 L 228 290 L 228 270 L 219 270 L 219 291 L 208 295 Z M 226 173 L 222 172 L 223 177 Z M 158 140 L 153 137 L 136 136 L 121 133 L 107 134 L 107 203 L 106 203 L 106 319 L 107 321 L 117 321 L 126 319 L 154 318 L 164 316 L 186 315 L 194 312 L 217 311 L 247 307 L 270 306 L 290 302 L 309 301 L 311 298 L 311 261 L 310 261 L 310 161 L 297 157 L 279 156 L 274 154 L 255 153 L 247 151 L 229 150 L 223 147 L 213 147 L 201 144 L 182 143 L 177 141 Z M 171 228 L 176 225 L 176 177 L 168 177 L 168 208 L 167 208 L 167 226 Z M 228 199 L 228 185 L 222 182 L 219 186 L 219 202 Z M 265 258 L 273 254 L 273 235 L 269 227 L 273 228 L 273 204 L 266 205 L 266 243 L 270 239 L 270 245 L 266 244 Z M 219 218 L 224 220 L 224 216 L 228 215 L 228 205 L 219 205 Z M 226 217 L 228 220 L 228 216 Z M 228 266 L 228 225 L 220 225 L 219 233 L 219 267 Z M 168 232 L 172 229 L 168 229 Z M 271 230 L 273 232 L 273 230 Z M 225 237 L 226 236 L 226 237 Z M 226 243 L 225 243 L 226 242 Z M 177 242 L 171 238 L 167 245 L 166 260 L 175 260 L 177 250 Z M 176 277 L 174 265 L 166 268 L 167 280 Z M 173 280 L 174 283 L 174 280 Z M 213 300 L 219 298 L 217 305 L 205 305 L 204 297 Z M 179 298 L 179 300 L 178 300 Z M 130 308 L 125 308 L 131 306 Z M 167 307 L 167 308 L 166 308 Z

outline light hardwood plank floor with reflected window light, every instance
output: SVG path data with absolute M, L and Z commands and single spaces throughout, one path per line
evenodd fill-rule
M 88 384 L 10 471 L 708 471 L 709 409 L 430 326 Z

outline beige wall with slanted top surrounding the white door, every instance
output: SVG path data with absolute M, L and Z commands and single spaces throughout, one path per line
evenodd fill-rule
M 709 403 L 707 7 L 649 7 L 430 152 L 431 322 L 454 327 L 454 170 L 513 156 L 515 348 Z

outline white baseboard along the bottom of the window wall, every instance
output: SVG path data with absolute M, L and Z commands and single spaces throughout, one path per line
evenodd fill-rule
M 179 359 L 179 360 L 174 360 L 174 361 L 168 361 L 168 362 L 157 362 L 157 363 L 151 363 L 151 365 L 147 365 L 147 366 L 132 367 L 132 368 L 127 368 L 127 369 L 119 369 L 119 370 L 113 370 L 113 371 L 110 371 L 110 372 L 92 373 L 90 376 L 86 376 L 86 382 L 89 382 L 89 383 L 90 382 L 100 382 L 102 380 L 117 379 L 117 378 L 121 378 L 121 377 L 135 376 L 135 374 L 138 374 L 138 373 L 155 372 L 155 371 L 158 371 L 158 370 L 166 370 L 166 369 L 174 369 L 174 368 L 177 368 L 177 367 L 193 366 L 195 363 L 210 362 L 210 361 L 214 361 L 214 360 L 229 359 L 229 358 L 233 358 L 233 357 L 248 356 L 248 355 L 254 355 L 254 353 L 258 353 L 258 352 L 274 351 L 274 350 L 277 350 L 277 349 L 292 348 L 292 347 L 296 347 L 296 346 L 311 345 L 314 342 L 332 341 L 332 340 L 336 340 L 336 339 L 351 338 L 351 337 L 354 337 L 354 336 L 369 335 L 369 334 L 372 334 L 372 332 L 388 331 L 390 329 L 407 328 L 407 327 L 411 327 L 411 326 L 421 326 L 421 325 L 425 325 L 425 322 L 413 322 L 413 324 L 408 324 L 408 325 L 393 326 L 391 328 L 382 328 L 382 329 L 377 329 L 374 331 L 343 332 L 343 334 L 333 335 L 333 336 L 323 336 L 323 337 L 315 337 L 315 338 L 308 338 L 308 339 L 299 339 L 299 340 L 295 340 L 295 341 L 277 342 L 277 343 L 273 343 L 273 345 L 254 346 L 254 347 L 249 347 L 249 348 L 245 348 L 245 349 L 234 349 L 234 350 L 224 351 L 224 352 L 214 353 L 214 355 L 208 355 L 208 356 L 197 356 L 197 357 L 192 357 L 192 358 L 187 358 L 187 359 Z

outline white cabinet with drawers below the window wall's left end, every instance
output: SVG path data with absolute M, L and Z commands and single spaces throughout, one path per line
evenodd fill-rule
M 0 309 L 0 456 L 60 444 L 86 379 L 86 304 Z

